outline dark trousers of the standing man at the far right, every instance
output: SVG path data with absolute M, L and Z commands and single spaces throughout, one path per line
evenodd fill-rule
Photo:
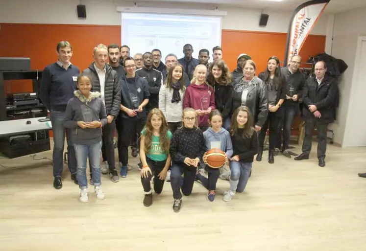
M 305 137 L 302 143 L 302 152 L 305 154 L 310 154 L 311 145 L 313 142 L 313 129 L 317 126 L 317 158 L 325 157 L 325 152 L 327 150 L 327 130 L 329 124 L 319 124 L 316 119 L 313 118 L 312 121 L 305 121 Z

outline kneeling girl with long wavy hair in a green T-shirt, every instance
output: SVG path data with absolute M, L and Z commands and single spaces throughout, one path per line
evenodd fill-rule
M 146 125 L 141 132 L 140 159 L 142 163 L 141 183 L 144 187 L 144 205 L 152 204 L 150 181 L 154 176 L 154 191 L 163 190 L 167 171 L 171 164 L 169 148 L 172 134 L 162 111 L 154 108 L 147 115 Z

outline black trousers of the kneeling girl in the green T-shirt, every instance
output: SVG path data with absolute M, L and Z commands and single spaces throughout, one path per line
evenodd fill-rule
M 154 191 L 155 193 L 160 194 L 161 191 L 163 191 L 165 180 L 160 180 L 158 175 L 164 169 L 167 161 L 154 161 L 146 157 L 146 162 L 154 176 Z M 144 192 L 149 192 L 151 190 L 151 178 L 151 174 L 148 174 L 147 178 L 141 177 L 141 183 L 144 187 Z

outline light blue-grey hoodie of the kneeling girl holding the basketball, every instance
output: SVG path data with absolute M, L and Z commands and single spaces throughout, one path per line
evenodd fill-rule
M 215 133 L 212 128 L 208 128 L 204 133 L 205 138 L 205 148 L 206 151 L 212 148 L 219 148 L 224 151 L 227 158 L 233 155 L 233 144 L 231 143 L 231 137 L 228 131 L 221 128 L 218 133 Z

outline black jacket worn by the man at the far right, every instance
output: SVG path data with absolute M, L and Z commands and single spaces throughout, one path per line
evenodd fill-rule
M 336 80 L 327 74 L 325 74 L 320 85 L 318 85 L 315 76 L 308 78 L 303 92 L 303 117 L 305 122 L 312 122 L 313 119 L 316 119 L 320 124 L 334 122 L 337 93 L 338 85 Z M 316 118 L 314 114 L 309 111 L 309 105 L 317 106 L 321 118 Z

